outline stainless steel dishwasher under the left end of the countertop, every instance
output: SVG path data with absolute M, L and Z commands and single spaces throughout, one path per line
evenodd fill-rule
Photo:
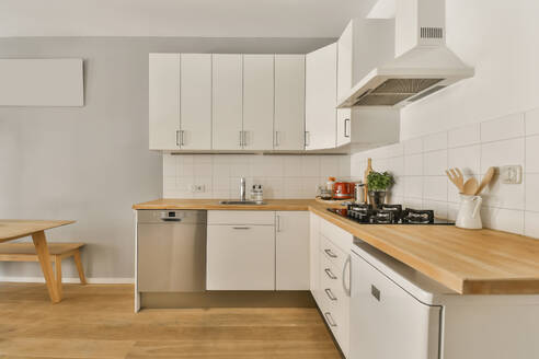
M 138 211 L 138 290 L 206 290 L 205 210 Z

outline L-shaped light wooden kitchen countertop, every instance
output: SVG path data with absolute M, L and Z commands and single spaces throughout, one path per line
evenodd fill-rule
M 159 199 L 135 209 L 310 210 L 461 294 L 539 294 L 539 240 L 454 225 L 365 225 L 310 199 L 266 206 L 223 206 L 218 200 Z

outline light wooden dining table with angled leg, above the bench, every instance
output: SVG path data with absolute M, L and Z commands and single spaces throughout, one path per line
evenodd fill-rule
M 74 221 L 0 219 L 0 243 L 18 240 L 24 236 L 32 236 L 35 252 L 39 258 L 39 264 L 42 265 L 48 296 L 50 297 L 50 301 L 53 303 L 58 303 L 61 301 L 61 293 L 56 283 L 45 231 L 71 223 L 74 223 Z

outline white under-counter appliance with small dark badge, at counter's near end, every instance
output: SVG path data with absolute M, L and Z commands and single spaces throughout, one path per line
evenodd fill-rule
M 460 296 L 354 244 L 347 359 L 539 358 L 539 296 Z

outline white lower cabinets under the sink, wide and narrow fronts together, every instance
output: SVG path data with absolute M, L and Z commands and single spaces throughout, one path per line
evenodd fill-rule
M 207 290 L 308 290 L 309 212 L 208 211 Z

